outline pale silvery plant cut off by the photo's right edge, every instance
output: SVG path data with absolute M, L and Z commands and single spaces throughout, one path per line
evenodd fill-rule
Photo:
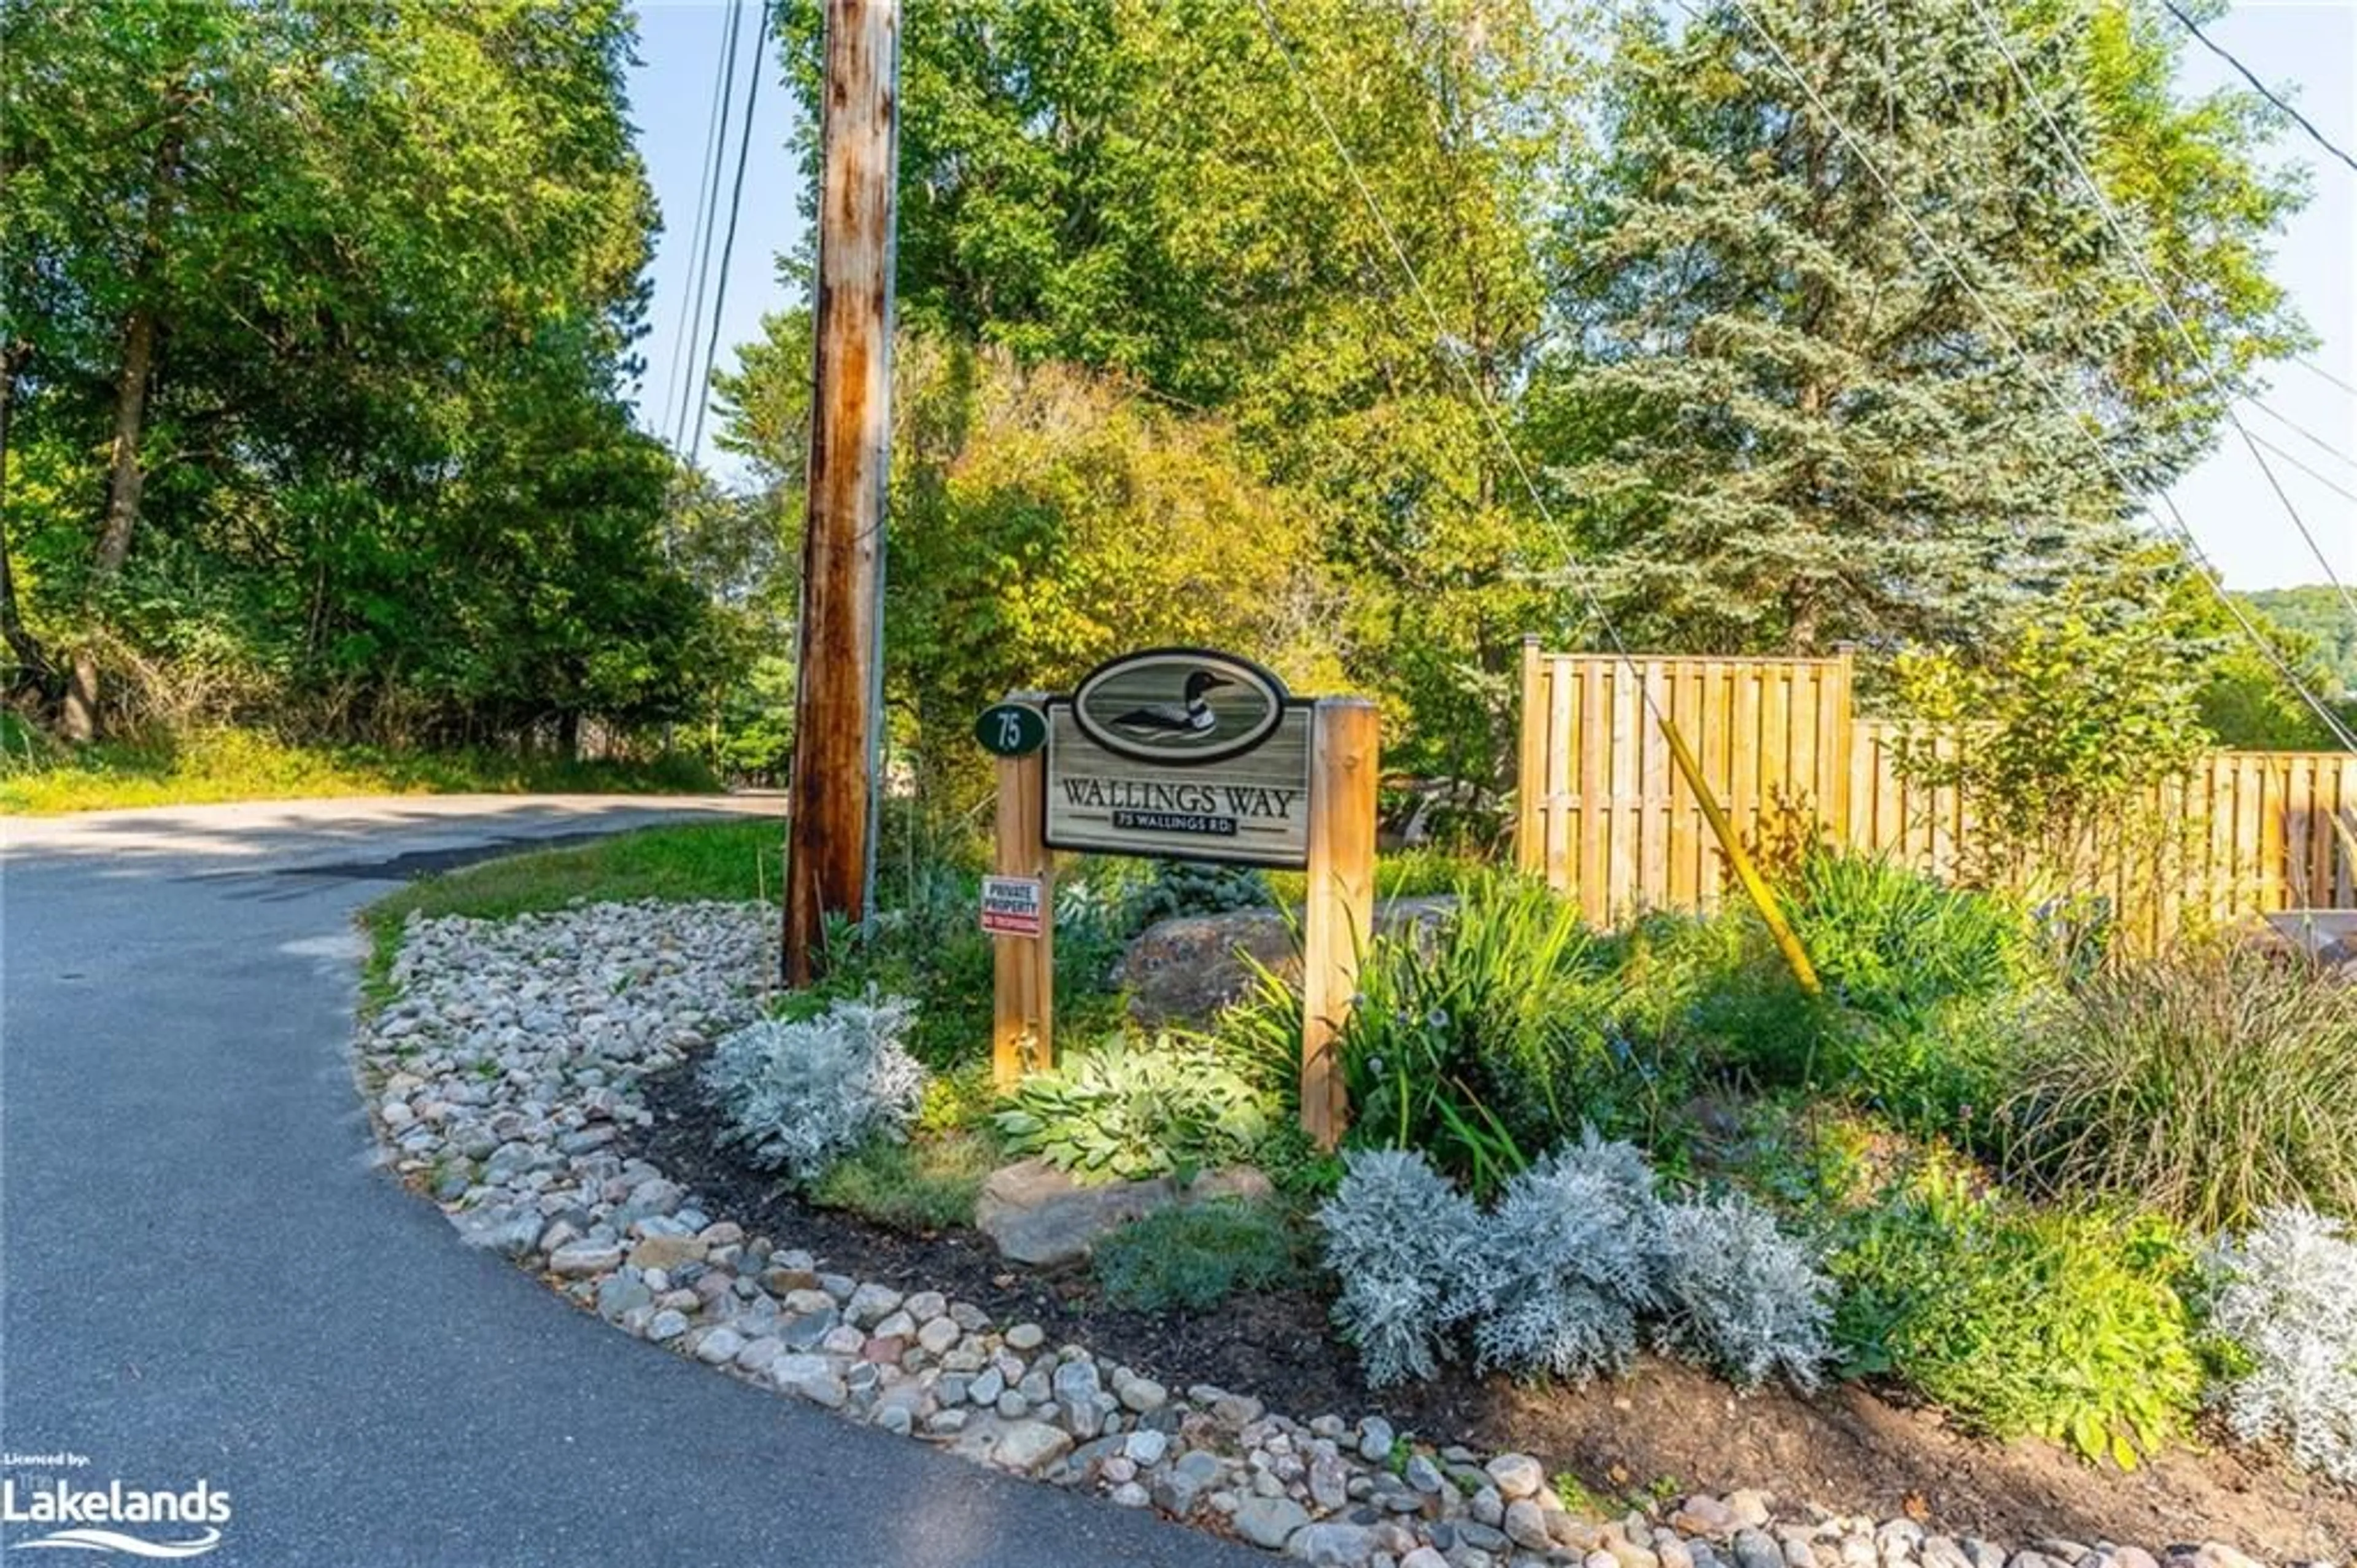
M 2357 1245 L 2310 1210 L 2267 1210 L 2201 1271 L 2227 1427 L 2357 1485 Z

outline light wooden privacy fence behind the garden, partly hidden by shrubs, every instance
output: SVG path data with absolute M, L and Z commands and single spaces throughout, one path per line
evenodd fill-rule
M 1857 719 L 1850 691 L 1848 655 L 1624 663 L 1525 641 L 1518 865 L 1574 891 L 1598 927 L 1723 903 L 1718 842 L 1671 766 L 1659 714 L 1739 832 L 1782 802 L 1841 844 L 1954 872 L 1980 846 L 1959 792 L 1907 778 L 1897 726 Z M 2211 752 L 2131 811 L 2150 813 L 2119 835 L 2135 849 L 2105 854 L 2079 882 L 2147 938 L 2190 915 L 2357 908 L 2357 856 L 2333 830 L 2338 818 L 2357 835 L 2357 759 L 2343 752 Z

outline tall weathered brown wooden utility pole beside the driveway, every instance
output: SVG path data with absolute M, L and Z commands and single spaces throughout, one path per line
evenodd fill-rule
M 827 0 L 825 50 L 811 509 L 785 795 L 787 986 L 806 986 L 823 962 L 827 915 L 865 920 L 874 894 L 900 0 Z

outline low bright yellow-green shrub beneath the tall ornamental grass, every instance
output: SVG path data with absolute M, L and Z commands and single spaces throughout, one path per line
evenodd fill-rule
M 1834 1339 L 1999 1438 L 2034 1434 L 2124 1469 L 2199 1391 L 2180 1236 L 2150 1214 L 2046 1212 L 1919 1174 L 1846 1224 Z

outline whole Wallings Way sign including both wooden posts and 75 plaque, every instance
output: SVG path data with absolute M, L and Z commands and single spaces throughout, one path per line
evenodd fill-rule
M 1308 703 L 1249 660 L 1150 648 L 1098 665 L 1070 698 L 1009 698 L 976 738 L 999 752 L 995 872 L 1016 879 L 985 908 L 997 1087 L 1056 1061 L 1058 846 L 1306 870 L 1301 1127 L 1334 1148 L 1351 1120 L 1334 1045 L 1374 929 L 1374 703 Z M 1023 929 L 1028 882 L 1037 934 Z

